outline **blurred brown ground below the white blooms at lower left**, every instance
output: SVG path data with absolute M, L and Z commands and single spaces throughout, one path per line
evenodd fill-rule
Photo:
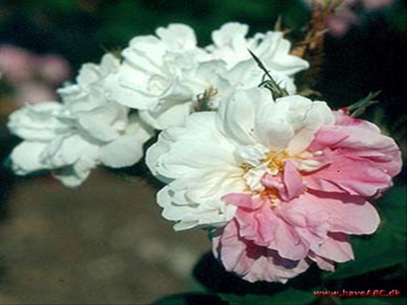
M 102 170 L 76 189 L 18 182 L 0 233 L 0 303 L 144 304 L 199 289 L 191 269 L 210 242 L 174 232 L 154 193 Z

